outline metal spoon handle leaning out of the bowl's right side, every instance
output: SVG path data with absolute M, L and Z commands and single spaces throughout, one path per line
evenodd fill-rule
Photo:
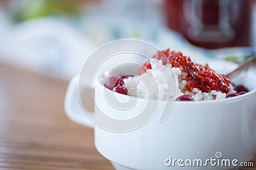
M 243 64 L 241 64 L 239 67 L 237 67 L 236 69 L 234 69 L 234 71 L 231 71 L 230 73 L 228 73 L 226 76 L 228 79 L 237 76 L 237 74 L 241 73 L 242 71 L 252 67 L 252 66 L 256 66 L 256 55 L 254 55 L 252 57 L 252 59 L 244 62 Z

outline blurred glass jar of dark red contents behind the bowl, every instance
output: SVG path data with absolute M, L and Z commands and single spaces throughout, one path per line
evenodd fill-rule
M 166 0 L 168 27 L 204 48 L 250 46 L 251 0 Z

